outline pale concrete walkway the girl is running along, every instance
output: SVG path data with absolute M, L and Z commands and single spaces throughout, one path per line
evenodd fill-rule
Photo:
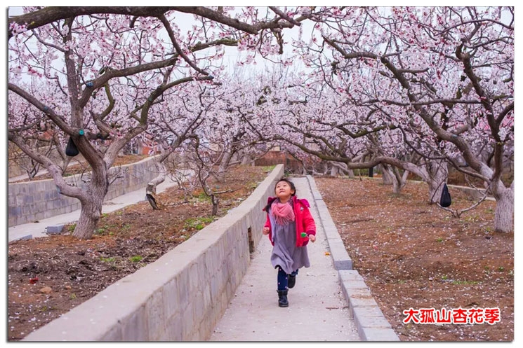
M 289 307 L 278 307 L 277 270 L 270 264 L 272 245 L 263 236 L 211 341 L 360 340 L 327 252 L 329 244 L 307 178 L 292 181 L 297 196 L 310 202 L 317 225 L 316 242 L 307 245 L 311 266 L 300 269 L 296 286 L 289 289 Z

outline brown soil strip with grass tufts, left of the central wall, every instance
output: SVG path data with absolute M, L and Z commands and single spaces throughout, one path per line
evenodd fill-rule
M 218 190 L 218 216 L 203 191 L 184 202 L 173 187 L 157 195 L 163 210 L 140 202 L 103 214 L 92 239 L 71 232 L 8 244 L 8 340 L 21 340 L 115 281 L 154 262 L 227 210 L 237 207 L 272 167 L 239 166 L 227 172 Z M 74 227 L 69 226 L 72 231 Z

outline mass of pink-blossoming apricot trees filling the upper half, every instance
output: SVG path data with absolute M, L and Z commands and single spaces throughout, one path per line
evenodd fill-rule
M 247 53 L 243 69 L 225 67 L 226 46 Z M 249 69 L 260 59 L 272 67 Z M 274 144 L 381 164 L 421 176 L 430 202 L 451 166 L 484 181 L 496 230 L 513 230 L 514 8 L 25 8 L 8 19 L 8 79 L 8 139 L 81 201 L 77 237 L 135 139 L 160 158 L 216 144 L 222 170 Z M 87 190 L 41 151 L 69 139 L 93 168 Z

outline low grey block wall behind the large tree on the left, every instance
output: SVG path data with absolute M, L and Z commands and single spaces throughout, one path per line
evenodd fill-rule
M 113 167 L 110 171 L 119 177 L 109 186 L 105 200 L 112 200 L 119 195 L 144 188 L 147 182 L 158 175 L 152 158 L 131 165 Z M 86 185 L 81 180 L 80 174 L 67 177 L 65 180 L 73 186 Z M 8 186 L 8 227 L 32 223 L 80 208 L 80 201 L 77 198 L 58 193 L 53 179 L 10 183 Z

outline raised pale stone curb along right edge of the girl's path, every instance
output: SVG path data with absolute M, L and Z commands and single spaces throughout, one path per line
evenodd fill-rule
M 400 341 L 374 300 L 363 277 L 357 270 L 352 269 L 352 260 L 345 249 L 345 244 L 332 220 L 329 209 L 317 189 L 315 179 L 307 175 L 307 181 L 318 209 L 319 223 L 322 224 L 325 231 L 334 267 L 339 274 L 340 286 L 354 318 L 359 337 L 362 341 Z

